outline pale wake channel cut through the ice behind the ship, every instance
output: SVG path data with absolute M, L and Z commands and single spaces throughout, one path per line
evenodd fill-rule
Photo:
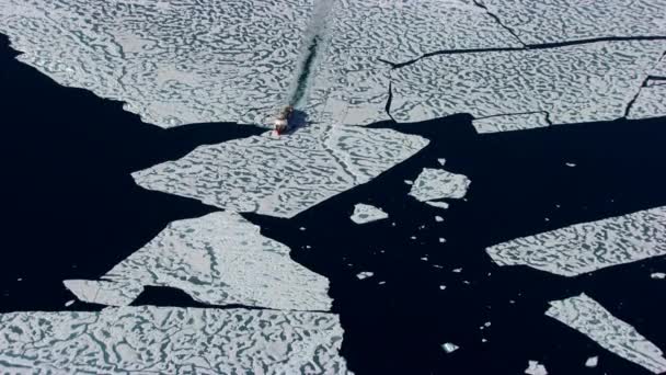
M 317 66 L 321 60 L 322 50 L 325 50 L 329 42 L 326 20 L 333 4 L 334 0 L 314 0 L 312 16 L 306 29 L 297 67 L 294 71 L 294 81 L 289 86 L 287 98 L 289 98 L 290 105 L 297 106 L 307 100 L 312 66 Z

